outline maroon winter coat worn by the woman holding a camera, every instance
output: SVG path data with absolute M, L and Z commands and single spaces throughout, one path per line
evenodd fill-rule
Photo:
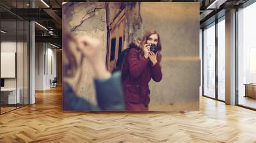
M 134 45 L 130 45 L 134 46 Z M 150 59 L 140 56 L 141 50 L 134 47 L 129 50 L 124 61 L 122 73 L 129 72 L 122 82 L 125 110 L 148 110 L 151 78 L 155 82 L 162 79 L 159 62 L 152 66 Z

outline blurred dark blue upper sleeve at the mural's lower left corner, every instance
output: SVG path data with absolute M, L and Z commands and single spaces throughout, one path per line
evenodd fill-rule
M 98 107 L 95 107 L 92 105 L 92 103 L 88 102 L 84 98 L 77 96 L 77 94 L 74 93 L 74 90 L 67 84 L 67 82 L 64 82 L 63 84 L 62 102 L 63 110 L 100 110 Z

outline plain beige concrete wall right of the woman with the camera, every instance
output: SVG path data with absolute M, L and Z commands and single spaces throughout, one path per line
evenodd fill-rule
M 198 110 L 199 3 L 141 3 L 143 29 L 161 36 L 163 80 L 150 82 L 150 109 Z M 156 110 L 159 110 L 157 109 Z M 165 109 L 164 109 L 165 108 Z

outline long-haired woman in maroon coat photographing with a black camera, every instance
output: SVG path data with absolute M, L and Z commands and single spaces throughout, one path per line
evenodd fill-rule
M 150 51 L 152 44 L 158 47 L 156 54 Z M 160 66 L 162 47 L 159 34 L 155 30 L 147 31 L 140 41 L 140 46 L 134 43 L 130 46 L 132 49 L 129 50 L 122 68 L 125 110 L 148 111 L 150 102 L 148 82 L 151 79 L 160 82 L 162 79 Z

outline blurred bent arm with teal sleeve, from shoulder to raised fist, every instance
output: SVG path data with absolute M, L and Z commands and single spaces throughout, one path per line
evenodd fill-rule
M 97 38 L 83 35 L 76 38 L 77 50 L 82 58 L 87 59 L 95 73 L 95 89 L 98 107 L 93 106 L 87 100 L 76 96 L 72 88 L 65 89 L 67 110 L 124 110 L 124 100 L 121 87 L 120 73 L 111 75 L 106 70 L 103 55 L 103 44 Z M 70 104 L 71 103 L 71 104 Z

